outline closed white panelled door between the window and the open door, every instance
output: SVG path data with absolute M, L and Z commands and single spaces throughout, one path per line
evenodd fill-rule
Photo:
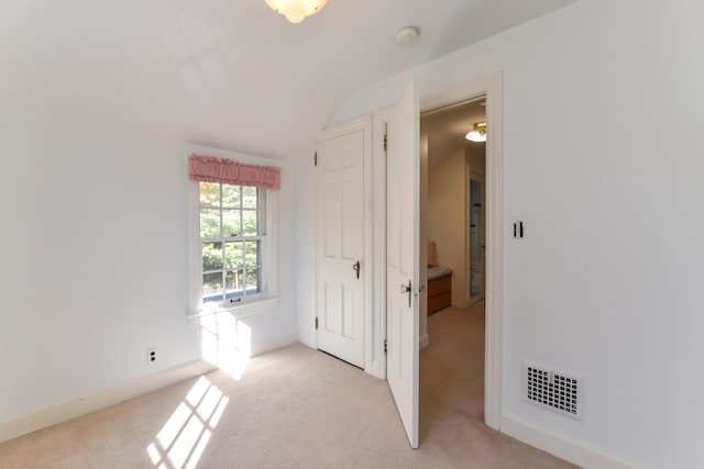
M 319 142 L 318 348 L 364 367 L 364 133 Z

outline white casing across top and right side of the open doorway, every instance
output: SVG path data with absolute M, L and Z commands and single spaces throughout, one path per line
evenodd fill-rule
M 503 150 L 502 74 L 474 80 L 420 100 L 420 112 L 486 96 L 486 340 L 484 422 L 499 429 L 502 409 L 503 320 Z

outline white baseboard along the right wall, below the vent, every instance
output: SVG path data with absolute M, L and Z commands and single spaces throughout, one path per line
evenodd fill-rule
M 502 414 L 501 431 L 530 446 L 587 469 L 636 469 L 647 467 L 584 442 L 578 442 L 549 429 L 540 428 L 513 415 Z

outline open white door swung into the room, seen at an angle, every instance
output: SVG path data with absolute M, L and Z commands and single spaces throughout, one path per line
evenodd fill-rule
M 411 81 L 387 124 L 386 372 L 413 448 L 418 447 L 419 121 Z

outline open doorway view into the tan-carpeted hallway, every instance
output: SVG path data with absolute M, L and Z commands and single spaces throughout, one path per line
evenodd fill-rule
M 421 435 L 433 428 L 433 438 L 458 414 L 484 424 L 486 144 L 465 135 L 485 122 L 485 96 L 420 116 L 427 159 L 421 233 L 436 257 L 428 264 L 438 266 L 429 271 L 451 270 L 452 284 L 451 304 L 428 317 L 430 345 L 420 356 Z

